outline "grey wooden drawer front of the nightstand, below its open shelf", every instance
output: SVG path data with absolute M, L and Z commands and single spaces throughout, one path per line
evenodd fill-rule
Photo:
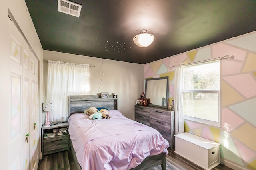
M 69 150 L 69 135 L 60 135 L 58 137 L 49 137 L 43 140 L 44 154 Z

